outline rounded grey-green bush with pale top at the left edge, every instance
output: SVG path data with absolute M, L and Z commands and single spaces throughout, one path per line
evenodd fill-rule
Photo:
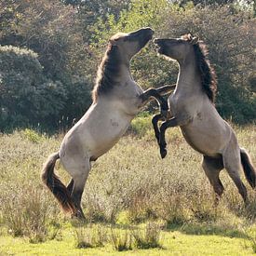
M 63 85 L 43 74 L 37 58 L 32 50 L 0 47 L 0 130 L 45 126 L 63 109 Z

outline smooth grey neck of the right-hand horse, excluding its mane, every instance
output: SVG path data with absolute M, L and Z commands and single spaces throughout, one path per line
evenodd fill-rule
M 177 79 L 176 93 L 195 95 L 201 93 L 201 79 L 198 74 L 195 60 L 185 60 L 179 62 L 179 75 Z

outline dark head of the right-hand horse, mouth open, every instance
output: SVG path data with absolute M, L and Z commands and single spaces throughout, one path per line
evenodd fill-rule
M 175 61 L 182 61 L 194 50 L 193 45 L 197 44 L 198 37 L 191 34 L 182 35 L 181 38 L 158 39 L 155 38 L 156 51 Z

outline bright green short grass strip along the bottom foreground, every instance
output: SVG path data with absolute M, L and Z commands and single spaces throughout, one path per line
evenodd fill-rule
M 181 231 L 163 232 L 163 249 L 115 251 L 111 244 L 96 249 L 76 249 L 74 231 L 63 230 L 61 241 L 30 244 L 26 239 L 0 237 L 1 252 L 19 255 L 254 255 L 244 239 L 229 236 L 187 235 Z

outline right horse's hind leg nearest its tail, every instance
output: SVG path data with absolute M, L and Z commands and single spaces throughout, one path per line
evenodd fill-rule
M 224 168 L 227 170 L 233 182 L 235 182 L 239 194 L 242 196 L 245 204 L 247 204 L 248 203 L 247 189 L 240 178 L 240 169 L 242 168 L 242 166 L 241 166 L 239 147 L 233 146 L 233 145 L 229 146 L 224 151 L 222 156 L 223 156 Z

